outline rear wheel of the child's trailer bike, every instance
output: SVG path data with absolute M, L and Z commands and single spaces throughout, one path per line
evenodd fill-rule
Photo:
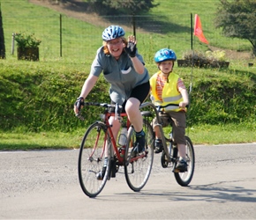
M 187 159 L 187 172 L 175 172 L 174 176 L 177 180 L 177 183 L 182 186 L 186 187 L 190 184 L 192 180 L 192 176 L 194 173 L 195 168 L 195 154 L 194 148 L 192 145 L 192 141 L 188 136 L 185 136 L 186 140 L 186 159 Z

